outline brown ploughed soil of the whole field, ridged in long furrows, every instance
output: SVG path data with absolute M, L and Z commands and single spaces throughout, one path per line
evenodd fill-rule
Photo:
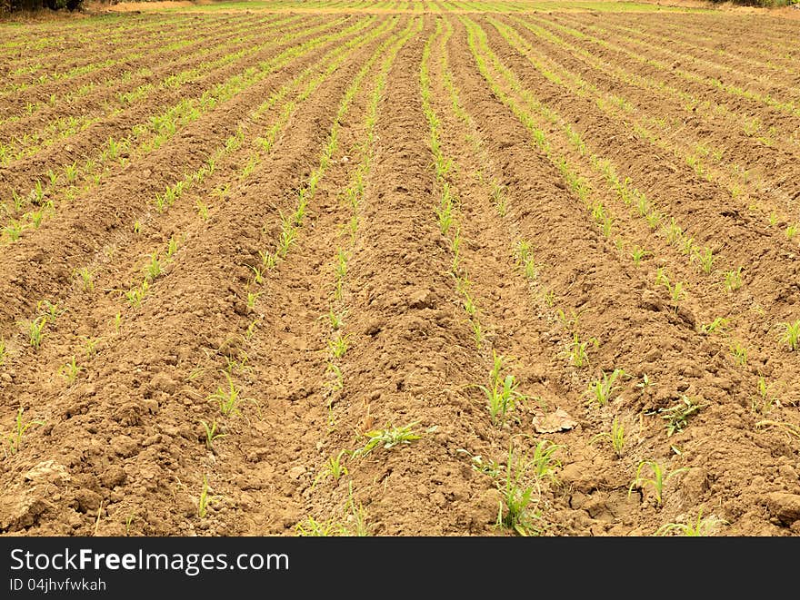
M 181 34 L 208 32 L 197 48 L 239 30 L 257 41 L 207 59 L 172 51 L 120 90 L 257 48 L 118 111 L 99 89 L 84 106 L 43 110 L 43 129 L 100 118 L 0 168 L 3 224 L 29 223 L 0 237 L 0 533 L 650 536 L 699 516 L 706 534 L 800 534 L 800 351 L 782 339 L 800 320 L 800 232 L 786 232 L 800 202 L 800 115 L 765 98 L 788 102 L 797 71 L 764 53 L 793 52 L 791 26 L 740 11 L 404 9 L 305 15 L 303 29 L 280 25 L 288 11 L 197 15 Z M 172 18 L 129 16 L 121 52 Z M 65 28 L 25 25 L 45 41 Z M 295 37 L 270 43 L 282 34 Z M 252 81 L 207 101 L 241 74 Z M 101 162 L 109 136 L 184 99 L 202 110 L 160 145 L 145 135 L 71 199 L 59 180 L 38 228 L 11 206 L 11 190 L 53 165 Z M 743 129 L 754 117 L 755 135 Z M 719 154 L 698 172 L 703 144 Z M 156 194 L 180 181 L 156 210 Z M 657 207 L 655 229 L 622 190 Z M 437 217 L 445 192 L 449 229 Z M 287 228 L 296 238 L 282 254 Z M 265 267 L 267 253 L 278 258 Z M 162 272 L 147 276 L 154 255 Z M 726 289 L 738 267 L 741 285 Z M 681 282 L 678 300 L 664 274 Z M 144 299 L 126 300 L 143 280 Z M 708 330 L 715 320 L 725 328 Z M 588 364 L 570 359 L 576 339 Z M 478 386 L 490 386 L 496 356 L 524 398 L 493 420 Z M 607 401 L 592 401 L 589 386 L 615 369 Z M 239 403 L 225 414 L 214 395 L 230 386 Z M 669 430 L 686 401 L 698 408 Z M 17 438 L 20 410 L 31 427 Z M 206 444 L 204 422 L 224 437 Z M 619 452 L 612 423 L 625 428 Z M 370 432 L 404 426 L 418 438 L 363 449 Z M 537 461 L 548 447 L 552 460 Z M 652 477 L 646 461 L 674 474 L 662 501 L 635 482 Z M 509 472 L 532 493 L 516 529 L 497 523 Z

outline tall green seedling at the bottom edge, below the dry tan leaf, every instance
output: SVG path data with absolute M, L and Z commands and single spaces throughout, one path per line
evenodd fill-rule
M 505 461 L 505 475 L 498 482 L 501 500 L 496 525 L 525 537 L 540 533 L 536 522 L 541 519 L 541 512 L 536 507 L 541 496 L 541 484 L 539 477 L 529 476 L 530 467 L 532 461 L 525 453 L 515 453 L 512 445 Z

